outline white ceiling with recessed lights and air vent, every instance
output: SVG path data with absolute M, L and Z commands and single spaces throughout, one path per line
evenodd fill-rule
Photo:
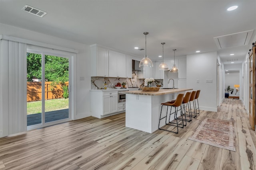
M 25 5 L 47 12 L 40 18 Z M 233 11 L 230 6 L 237 5 Z M 218 49 L 214 37 L 256 29 L 256 0 L 0 0 L 0 22 L 87 45 L 98 43 L 153 61 L 218 51 L 242 62 L 249 45 Z M 233 53 L 233 56 L 230 54 Z

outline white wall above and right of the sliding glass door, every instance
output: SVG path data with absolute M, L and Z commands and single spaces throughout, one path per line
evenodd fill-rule
M 47 43 L 49 45 L 58 45 L 61 47 L 67 47 L 71 49 L 77 49 L 79 53 L 76 55 L 76 113 L 74 119 L 80 119 L 88 117 L 90 113 L 90 46 L 74 41 L 68 41 L 58 37 L 37 33 L 27 29 L 21 29 L 10 25 L 0 23 L 0 34 L 9 35 L 13 37 L 19 37 L 38 41 L 41 43 Z M 2 72 L 0 73 L 2 74 Z M 84 78 L 84 80 L 80 80 Z

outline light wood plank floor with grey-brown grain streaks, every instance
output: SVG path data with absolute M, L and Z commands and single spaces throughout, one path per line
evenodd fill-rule
M 206 117 L 234 120 L 236 152 L 188 140 Z M 200 115 L 178 134 L 125 127 L 125 114 L 88 117 L 0 138 L 0 169 L 256 170 L 256 132 L 240 100 Z

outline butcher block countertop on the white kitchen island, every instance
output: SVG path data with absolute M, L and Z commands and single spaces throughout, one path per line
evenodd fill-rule
M 188 90 L 193 90 L 192 88 L 177 88 L 177 89 L 159 89 L 157 92 L 142 91 L 142 90 L 130 90 L 122 91 L 124 94 L 139 94 L 139 95 L 148 95 L 148 96 L 159 96 L 163 94 L 172 94 L 178 92 L 185 92 Z

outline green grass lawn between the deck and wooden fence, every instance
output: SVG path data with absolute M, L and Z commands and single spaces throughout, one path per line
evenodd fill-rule
M 68 109 L 67 99 L 51 99 L 45 101 L 45 112 Z M 42 101 L 27 102 L 27 115 L 42 112 Z

